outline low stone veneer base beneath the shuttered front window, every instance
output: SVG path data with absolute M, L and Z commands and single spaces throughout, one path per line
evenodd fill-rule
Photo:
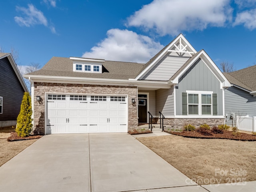
M 194 125 L 196 128 L 199 128 L 202 124 L 208 124 L 211 128 L 213 126 L 223 125 L 225 118 L 208 118 L 208 119 L 182 119 L 182 118 L 166 118 L 164 119 L 164 125 L 168 125 L 174 129 L 183 129 L 184 126 L 191 124 Z M 160 120 L 155 118 L 155 122 L 160 124 Z

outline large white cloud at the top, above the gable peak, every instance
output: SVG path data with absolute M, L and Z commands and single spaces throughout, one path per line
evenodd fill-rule
M 225 26 L 232 19 L 230 0 L 154 0 L 128 18 L 127 26 L 154 28 L 158 34 Z

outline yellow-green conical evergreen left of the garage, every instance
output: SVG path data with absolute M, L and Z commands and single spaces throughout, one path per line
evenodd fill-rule
M 25 92 L 20 106 L 20 114 L 17 118 L 17 126 L 15 130 L 18 136 L 26 137 L 30 135 L 33 126 L 31 116 L 31 97 L 28 92 Z

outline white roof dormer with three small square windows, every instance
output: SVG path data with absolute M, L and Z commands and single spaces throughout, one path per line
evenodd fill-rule
M 102 73 L 102 63 L 105 60 L 70 57 L 74 72 Z

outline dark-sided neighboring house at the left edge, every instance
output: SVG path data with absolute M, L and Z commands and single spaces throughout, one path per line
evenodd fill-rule
M 10 53 L 0 53 L 0 127 L 16 125 L 28 88 Z

